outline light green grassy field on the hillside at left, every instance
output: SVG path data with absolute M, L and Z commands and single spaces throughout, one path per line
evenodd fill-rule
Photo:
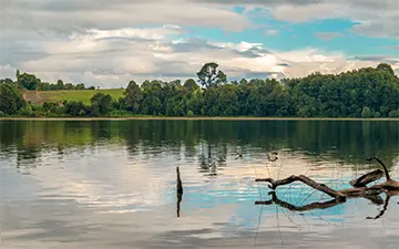
M 90 98 L 95 93 L 110 94 L 112 98 L 117 100 L 123 95 L 123 89 L 104 90 L 62 90 L 62 91 L 24 91 L 23 97 L 33 104 L 43 104 L 44 102 L 81 101 L 90 104 Z

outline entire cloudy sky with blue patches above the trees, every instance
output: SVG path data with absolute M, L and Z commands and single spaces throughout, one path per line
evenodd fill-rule
M 399 73 L 397 0 L 1 0 L 0 77 L 126 86 L 340 73 L 385 62 Z

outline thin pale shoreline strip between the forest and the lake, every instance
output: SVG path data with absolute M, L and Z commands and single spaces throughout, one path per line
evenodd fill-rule
M 0 121 L 399 121 L 399 117 L 0 117 Z

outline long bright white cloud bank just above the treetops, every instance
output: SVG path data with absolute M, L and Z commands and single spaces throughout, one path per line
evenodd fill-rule
M 203 63 L 215 61 L 232 77 L 305 76 L 311 72 L 338 73 L 375 66 L 386 56 L 358 56 L 348 60 L 340 52 L 315 48 L 295 51 L 268 51 L 262 43 L 217 42 L 201 39 L 170 40 L 168 28 L 94 31 L 71 35 L 65 41 L 37 42 L 40 59 L 21 62 L 21 70 L 44 81 L 84 82 L 101 87 L 125 86 L 130 80 L 195 77 Z M 100 38 L 100 39 L 99 39 Z M 112 39 L 111 39 L 112 38 Z M 0 72 L 14 74 L 12 66 Z

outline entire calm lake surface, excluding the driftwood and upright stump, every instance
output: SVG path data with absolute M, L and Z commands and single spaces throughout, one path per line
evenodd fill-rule
M 276 162 L 267 152 L 277 151 Z M 237 152 L 243 158 L 237 157 Z M 399 198 L 291 211 L 256 177 L 393 178 L 395 121 L 0 121 L 1 248 L 398 248 Z M 177 217 L 176 166 L 184 195 Z M 301 184 L 297 207 L 330 198 Z

